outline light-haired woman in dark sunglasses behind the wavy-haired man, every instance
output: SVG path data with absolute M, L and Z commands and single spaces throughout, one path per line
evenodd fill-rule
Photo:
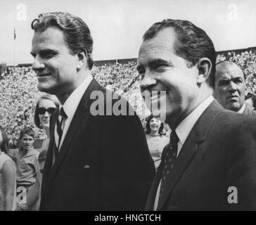
M 50 140 L 50 117 L 51 114 L 59 107 L 58 98 L 50 94 L 42 95 L 37 101 L 36 110 L 34 113 L 34 123 L 39 129 L 44 129 L 46 139 L 44 139 L 39 155 L 40 172 L 43 172 L 44 162 Z

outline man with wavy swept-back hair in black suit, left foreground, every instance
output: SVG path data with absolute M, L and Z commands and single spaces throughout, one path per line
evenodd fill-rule
M 39 90 L 61 104 L 51 117 L 40 210 L 142 210 L 153 161 L 139 117 L 91 76 L 89 28 L 59 12 L 39 15 L 32 29 Z

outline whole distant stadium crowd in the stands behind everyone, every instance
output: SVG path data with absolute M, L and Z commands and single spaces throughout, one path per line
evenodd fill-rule
M 247 93 L 256 93 L 256 52 L 228 53 L 218 55 L 217 62 L 230 60 L 237 63 L 246 75 Z M 96 80 L 107 89 L 117 91 L 124 96 L 136 110 L 142 124 L 145 126 L 146 117 L 150 114 L 141 97 L 139 75 L 136 63 L 113 63 L 94 66 L 92 74 Z M 42 129 L 34 126 L 34 108 L 40 92 L 37 90 L 37 77 L 30 67 L 8 68 L 0 79 L 0 123 L 6 129 L 11 141 L 18 139 L 20 130 L 32 126 L 36 131 L 36 139 L 44 139 Z

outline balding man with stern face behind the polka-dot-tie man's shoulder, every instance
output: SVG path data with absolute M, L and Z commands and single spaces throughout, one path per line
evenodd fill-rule
M 226 110 L 256 116 L 245 104 L 245 73 L 231 61 L 216 64 L 215 96 Z

